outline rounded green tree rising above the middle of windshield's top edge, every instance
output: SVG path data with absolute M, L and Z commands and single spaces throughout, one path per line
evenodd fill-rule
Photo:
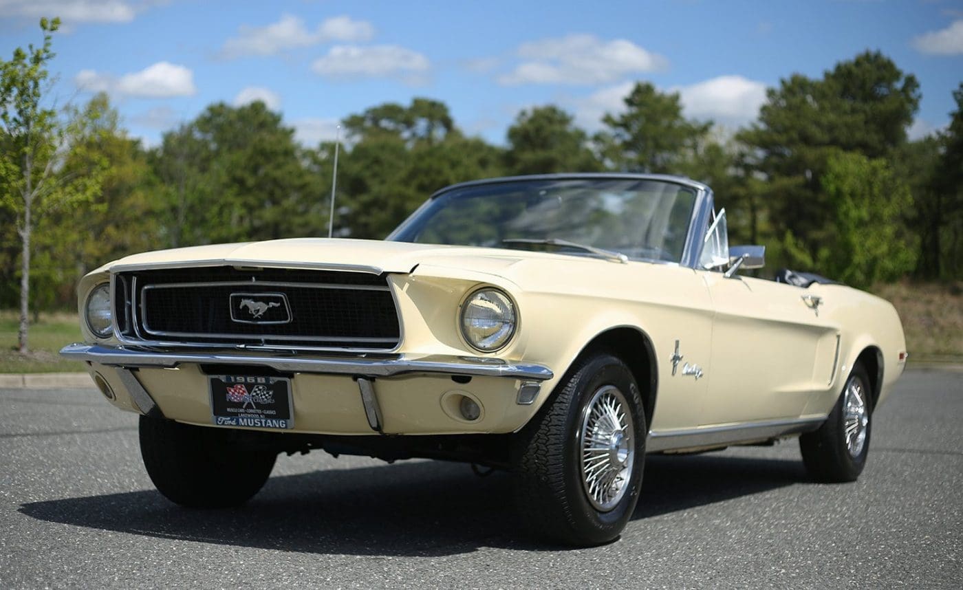
M 522 111 L 508 127 L 509 174 L 595 172 L 602 163 L 588 148 L 588 136 L 572 115 L 548 105 Z

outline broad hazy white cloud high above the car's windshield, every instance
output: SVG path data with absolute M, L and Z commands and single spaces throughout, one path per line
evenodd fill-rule
M 522 44 L 521 64 L 501 76 L 503 85 L 607 84 L 626 74 L 650 72 L 667 64 L 665 58 L 632 41 L 603 41 L 593 35 L 569 35 Z

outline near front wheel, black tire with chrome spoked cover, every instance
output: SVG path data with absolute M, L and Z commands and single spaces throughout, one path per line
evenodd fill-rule
M 620 359 L 578 362 L 516 435 L 516 504 L 535 536 L 593 546 L 618 537 L 638 502 L 648 431 L 636 380 Z

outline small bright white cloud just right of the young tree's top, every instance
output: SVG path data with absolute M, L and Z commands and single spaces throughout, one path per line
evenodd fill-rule
M 124 74 L 119 78 L 84 69 L 74 77 L 73 82 L 80 90 L 140 98 L 192 96 L 197 91 L 194 72 L 183 65 L 168 62 L 148 65 L 139 72 Z

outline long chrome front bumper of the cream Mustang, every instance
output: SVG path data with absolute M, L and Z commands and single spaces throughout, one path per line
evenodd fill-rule
M 390 377 L 412 372 L 551 379 L 548 367 L 535 363 L 514 363 L 498 358 L 455 355 L 411 356 L 405 354 L 302 356 L 296 354 L 244 354 L 211 351 L 170 352 L 142 347 L 73 344 L 64 346 L 66 358 L 110 367 L 177 367 L 182 364 L 259 365 L 280 372 L 319 372 Z

